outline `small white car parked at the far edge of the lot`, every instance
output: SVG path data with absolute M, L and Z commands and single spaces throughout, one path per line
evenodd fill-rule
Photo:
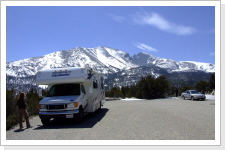
M 183 99 L 191 99 L 191 100 L 205 100 L 205 94 L 201 94 L 200 92 L 196 90 L 187 90 L 181 94 L 181 97 Z

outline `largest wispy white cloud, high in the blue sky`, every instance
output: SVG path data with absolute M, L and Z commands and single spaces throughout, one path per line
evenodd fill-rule
M 171 32 L 178 35 L 188 35 L 196 32 L 196 29 L 189 26 L 177 25 L 171 21 L 166 20 L 157 13 L 139 13 L 133 17 L 135 23 L 143 25 L 151 25 L 160 30 Z

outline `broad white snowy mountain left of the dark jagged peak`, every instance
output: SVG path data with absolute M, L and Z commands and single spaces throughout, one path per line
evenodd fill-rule
M 6 73 L 10 76 L 25 77 L 35 75 L 38 70 L 83 67 L 89 65 L 103 74 L 137 67 L 128 53 L 107 47 L 74 48 L 57 51 L 41 57 L 33 57 L 6 64 Z

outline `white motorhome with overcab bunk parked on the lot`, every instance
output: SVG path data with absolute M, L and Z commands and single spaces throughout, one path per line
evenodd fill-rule
M 75 118 L 79 122 L 89 112 L 100 110 L 105 103 L 104 78 L 90 67 L 41 70 L 37 85 L 48 85 L 48 93 L 39 102 L 43 125 L 52 118 Z

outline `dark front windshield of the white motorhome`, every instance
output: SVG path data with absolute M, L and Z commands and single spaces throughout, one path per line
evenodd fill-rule
M 47 93 L 47 97 L 80 95 L 80 84 L 53 85 Z

